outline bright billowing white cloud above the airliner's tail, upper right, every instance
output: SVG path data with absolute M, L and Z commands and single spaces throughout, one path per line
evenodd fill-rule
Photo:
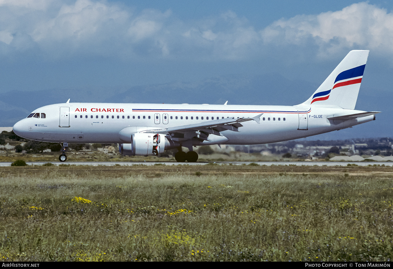
M 261 35 L 265 43 L 298 46 L 307 46 L 311 39 L 321 53 L 362 48 L 392 54 L 393 14 L 363 2 L 340 11 L 281 19 L 263 29 Z

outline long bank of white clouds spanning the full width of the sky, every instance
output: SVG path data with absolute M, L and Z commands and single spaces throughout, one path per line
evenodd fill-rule
M 120 4 L 96 0 L 0 0 L 0 42 L 8 48 L 3 53 L 31 49 L 52 58 L 250 60 L 282 46 L 299 51 L 316 47 L 320 56 L 347 49 L 393 55 L 393 14 L 359 3 L 256 30 L 233 11 L 179 20 L 170 10 L 134 14 Z

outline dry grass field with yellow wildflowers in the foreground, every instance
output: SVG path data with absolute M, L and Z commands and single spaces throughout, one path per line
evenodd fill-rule
M 0 167 L 2 261 L 390 261 L 393 168 Z

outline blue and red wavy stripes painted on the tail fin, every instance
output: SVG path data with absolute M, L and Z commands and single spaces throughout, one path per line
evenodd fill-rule
M 329 99 L 330 92 L 335 88 L 358 84 L 362 82 L 362 77 L 364 73 L 365 64 L 362 66 L 358 66 L 349 70 L 345 70 L 338 74 L 336 80 L 334 81 L 333 88 L 328 91 L 320 91 L 312 97 L 311 104 L 316 101 L 323 101 Z

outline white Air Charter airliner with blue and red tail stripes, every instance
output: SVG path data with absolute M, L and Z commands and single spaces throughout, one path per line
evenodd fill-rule
M 123 155 L 158 155 L 178 148 L 178 162 L 195 162 L 194 146 L 286 141 L 375 120 L 354 110 L 369 51 L 353 50 L 311 97 L 296 106 L 209 104 L 51 104 L 34 110 L 13 130 L 26 139 L 63 143 L 118 143 Z M 182 151 L 182 147 L 189 152 Z

